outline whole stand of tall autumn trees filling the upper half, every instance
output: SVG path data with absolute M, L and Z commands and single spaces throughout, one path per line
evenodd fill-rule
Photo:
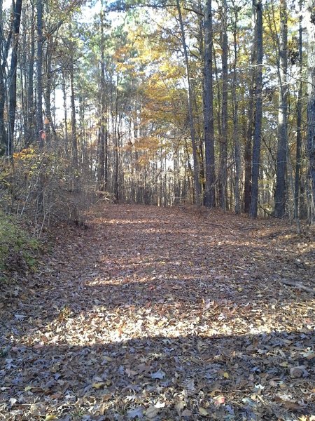
M 313 7 L 1 1 L 3 206 L 62 219 L 104 192 L 314 223 Z

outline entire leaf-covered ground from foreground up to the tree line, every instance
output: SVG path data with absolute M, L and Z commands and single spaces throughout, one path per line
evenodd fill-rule
M 315 420 L 314 237 L 100 206 L 0 308 L 0 420 Z M 10 287 L 12 292 L 12 286 Z

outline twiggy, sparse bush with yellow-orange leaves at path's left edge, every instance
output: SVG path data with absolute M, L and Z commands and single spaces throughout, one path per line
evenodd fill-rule
M 22 149 L 14 167 L 4 159 L 0 170 L 0 208 L 25 215 L 41 236 L 55 222 L 83 221 L 84 210 L 97 198 L 94 183 L 56 150 Z

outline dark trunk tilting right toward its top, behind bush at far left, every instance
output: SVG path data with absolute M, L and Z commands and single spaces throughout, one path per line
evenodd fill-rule
M 10 62 L 10 73 L 9 73 L 9 125 L 8 125 L 8 147 L 7 153 L 10 159 L 13 159 L 13 138 L 14 138 L 14 126 L 15 126 L 15 112 L 16 112 L 16 73 L 18 67 L 18 44 L 19 44 L 19 32 L 20 32 L 20 21 L 22 11 L 22 0 L 17 0 L 15 7 L 13 8 L 13 46 L 12 55 Z

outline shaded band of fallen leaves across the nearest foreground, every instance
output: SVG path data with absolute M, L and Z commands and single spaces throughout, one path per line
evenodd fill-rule
M 48 413 L 64 421 L 292 420 L 314 415 L 314 346 L 314 330 L 15 343 L 1 359 L 0 413 L 17 421 Z

